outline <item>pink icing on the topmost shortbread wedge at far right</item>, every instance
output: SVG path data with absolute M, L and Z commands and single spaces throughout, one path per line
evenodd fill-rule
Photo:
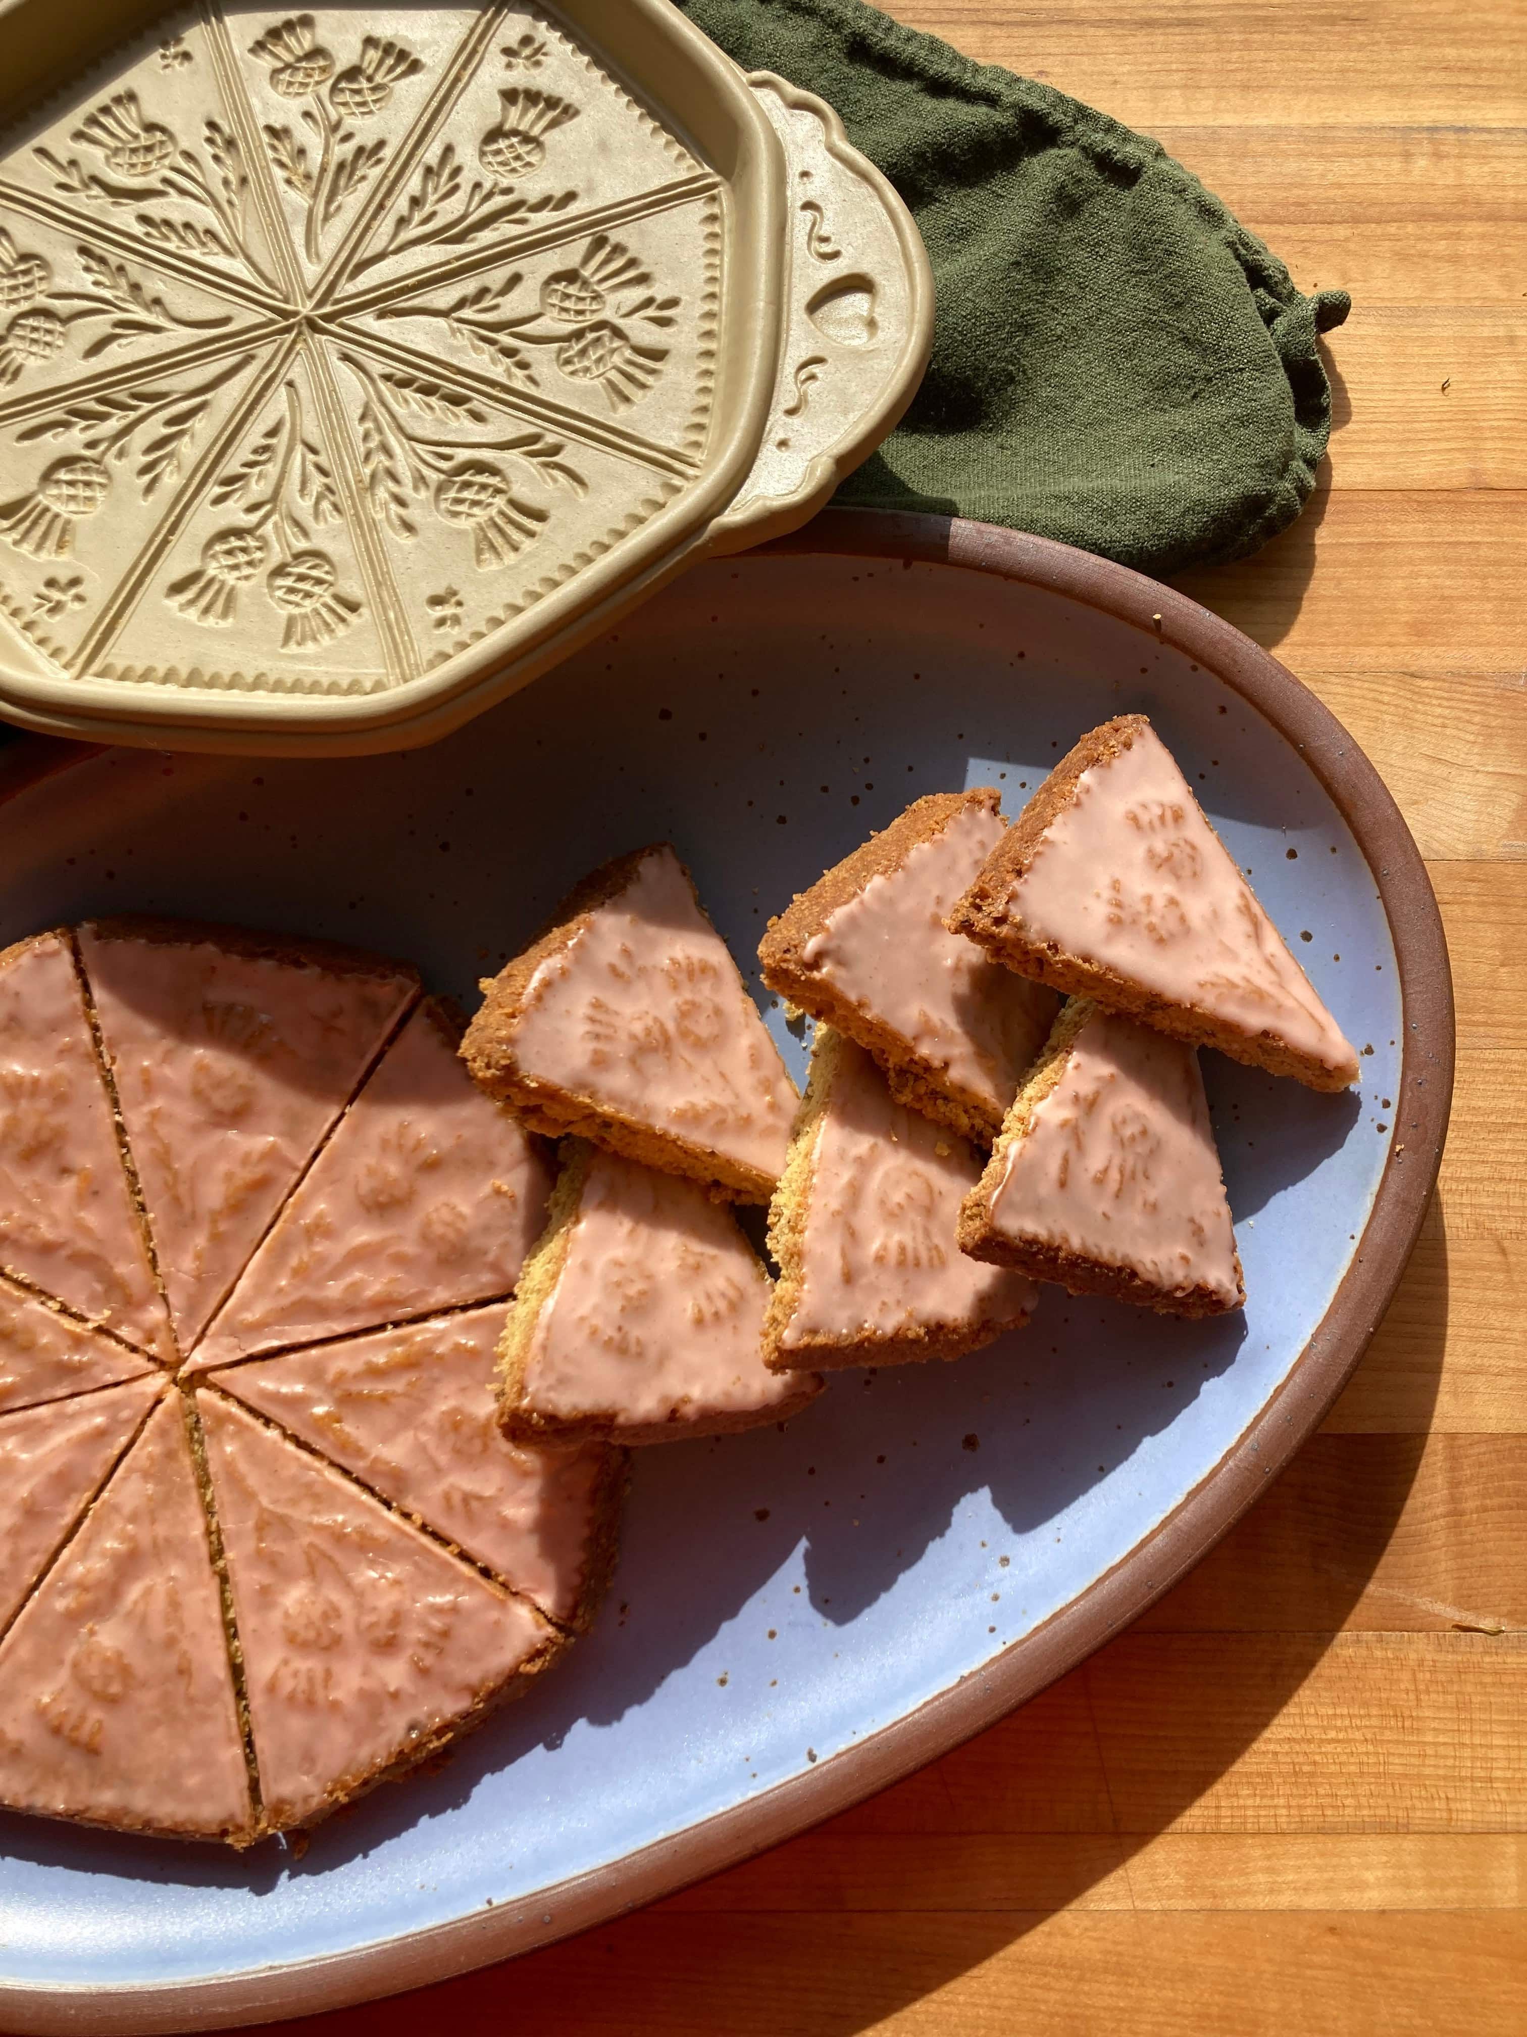
M 1173 1004 L 1277 1033 L 1321 1067 L 1358 1057 L 1203 819 L 1175 758 L 1138 729 L 1091 764 L 1014 884 L 1006 917 Z

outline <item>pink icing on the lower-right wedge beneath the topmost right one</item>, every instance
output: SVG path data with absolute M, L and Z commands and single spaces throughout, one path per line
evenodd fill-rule
M 1095 1010 L 1008 1151 L 992 1228 L 1240 1306 L 1240 1269 L 1199 1057 Z

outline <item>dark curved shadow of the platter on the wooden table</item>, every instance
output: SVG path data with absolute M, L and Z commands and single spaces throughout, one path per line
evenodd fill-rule
M 1128 1634 L 818 1831 L 511 1966 L 285 2029 L 855 2037 L 1057 1911 L 1130 1909 L 1128 1860 L 1277 1719 L 1380 1566 L 1421 1461 L 1446 1324 L 1433 1202 L 1374 1351 L 1380 1369 L 1403 1369 L 1417 1434 L 1315 1436 Z M 1222 1644 L 1256 1632 L 1264 1650 Z M 924 2015 L 937 2029 L 937 2011 Z

